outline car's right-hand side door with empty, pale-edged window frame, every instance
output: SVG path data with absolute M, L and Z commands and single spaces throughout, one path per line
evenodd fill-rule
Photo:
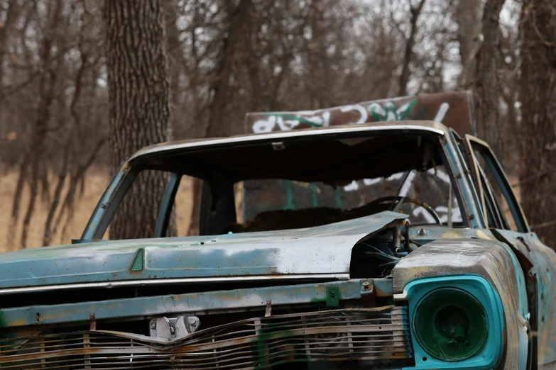
M 529 361 L 539 369 L 556 366 L 556 253 L 530 232 L 527 220 L 489 145 L 467 135 L 471 176 L 486 227 L 516 253 L 528 292 L 531 344 Z

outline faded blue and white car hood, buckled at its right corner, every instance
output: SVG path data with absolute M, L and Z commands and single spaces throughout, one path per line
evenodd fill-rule
M 234 276 L 340 274 L 347 279 L 351 248 L 406 217 L 381 212 L 306 229 L 19 250 L 0 254 L 0 289 Z

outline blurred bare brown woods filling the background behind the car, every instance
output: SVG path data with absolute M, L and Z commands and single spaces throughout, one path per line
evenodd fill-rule
M 556 245 L 555 24 L 546 0 L 0 0 L 7 244 L 78 237 L 94 174 L 145 145 L 243 133 L 249 111 L 471 89 L 479 137 Z M 141 184 L 111 237 L 153 228 L 165 179 Z

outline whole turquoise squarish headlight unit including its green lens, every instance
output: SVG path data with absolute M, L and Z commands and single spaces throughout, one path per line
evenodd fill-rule
M 413 369 L 493 369 L 503 353 L 502 302 L 481 276 L 438 276 L 405 285 Z

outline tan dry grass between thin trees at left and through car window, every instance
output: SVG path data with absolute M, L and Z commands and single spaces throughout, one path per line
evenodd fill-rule
M 16 189 L 18 174 L 17 172 L 8 172 L 0 177 L 0 252 L 9 252 L 18 250 L 21 243 L 21 229 L 23 216 L 26 212 L 29 201 L 28 188 L 23 192 L 22 204 L 18 223 L 15 228 L 11 222 L 11 206 L 13 196 Z M 184 179 L 185 180 L 185 179 Z M 77 239 L 89 221 L 89 217 L 97 206 L 99 198 L 102 196 L 110 181 L 109 171 L 92 170 L 86 177 L 85 191 L 82 196 L 77 199 L 75 204 L 75 212 L 72 220 L 67 225 L 67 235 L 62 235 L 62 225 L 58 227 L 57 232 L 53 235 L 52 245 L 62 245 L 71 243 L 72 239 Z M 55 184 L 55 176 L 51 176 L 50 184 Z M 54 185 L 52 185 L 54 187 Z M 67 189 L 67 184 L 65 186 Z M 52 189 L 53 190 L 53 189 Z M 178 220 L 178 235 L 186 235 L 190 224 L 190 215 L 192 210 L 192 183 L 191 181 L 181 181 L 180 188 L 176 198 L 176 215 Z M 65 193 L 64 193 L 65 195 Z M 45 222 L 48 215 L 49 204 L 38 199 L 36 208 L 31 220 L 29 228 L 27 246 L 42 247 L 43 236 L 45 230 Z M 65 217 L 62 218 L 65 221 Z

